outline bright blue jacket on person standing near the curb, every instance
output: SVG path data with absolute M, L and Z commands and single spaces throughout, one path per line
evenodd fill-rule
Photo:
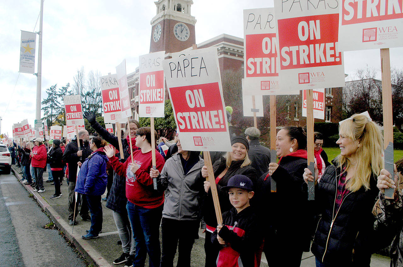
M 109 161 L 102 149 L 94 151 L 85 159 L 77 176 L 75 191 L 91 196 L 105 193 L 108 175 L 106 163 Z

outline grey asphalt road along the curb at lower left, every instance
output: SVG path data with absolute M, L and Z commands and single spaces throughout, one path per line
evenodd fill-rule
M 0 173 L 0 267 L 82 266 L 86 263 L 12 174 Z

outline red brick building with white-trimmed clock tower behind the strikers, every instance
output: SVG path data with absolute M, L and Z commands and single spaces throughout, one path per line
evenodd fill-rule
M 191 49 L 195 44 L 196 19 L 191 16 L 192 0 L 158 0 L 156 16 L 151 20 L 150 53 L 165 50 L 165 58 L 172 53 Z M 226 70 L 243 72 L 243 38 L 222 34 L 197 44 L 198 48 L 216 47 L 221 73 Z M 139 69 L 127 75 L 129 92 L 132 96 L 133 117 L 138 119 Z M 239 81 L 241 83 L 241 81 Z M 165 92 L 168 97 L 168 91 Z M 306 124 L 302 117 L 302 92 L 295 96 L 278 96 L 277 124 Z M 225 100 L 225 98 L 224 98 Z M 316 122 L 339 122 L 342 116 L 342 88 L 326 88 L 325 120 Z M 265 116 L 269 110 L 265 110 Z M 267 114 L 267 115 L 266 115 Z

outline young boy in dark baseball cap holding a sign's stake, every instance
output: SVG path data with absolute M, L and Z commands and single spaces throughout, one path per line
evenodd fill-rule
M 222 214 L 223 225 L 218 225 L 211 241 L 220 249 L 217 267 L 258 266 L 256 255 L 262 244 L 262 232 L 249 200 L 253 197 L 252 181 L 245 175 L 234 175 L 223 189 L 228 189 L 234 206 Z

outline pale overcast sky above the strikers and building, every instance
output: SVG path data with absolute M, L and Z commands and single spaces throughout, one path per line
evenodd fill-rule
M 222 33 L 243 37 L 243 9 L 273 6 L 272 1 L 264 0 L 193 2 L 196 43 Z M 36 76 L 18 71 L 20 30 L 39 31 L 39 20 L 35 27 L 39 11 L 39 0 L 2 1 L 0 9 L 1 132 L 9 135 L 13 123 L 27 118 L 33 124 L 35 119 Z M 150 21 L 155 15 L 152 0 L 45 1 L 42 99 L 46 98 L 46 88 L 54 84 L 73 84 L 81 66 L 86 73 L 98 70 L 107 75 L 115 73 L 116 65 L 126 59 L 127 73 L 133 72 L 139 55 L 150 50 Z M 391 65 L 403 67 L 403 49 L 390 51 Z M 380 77 L 379 53 L 379 49 L 344 53 L 345 73 L 353 75 L 356 69 L 369 65 Z

